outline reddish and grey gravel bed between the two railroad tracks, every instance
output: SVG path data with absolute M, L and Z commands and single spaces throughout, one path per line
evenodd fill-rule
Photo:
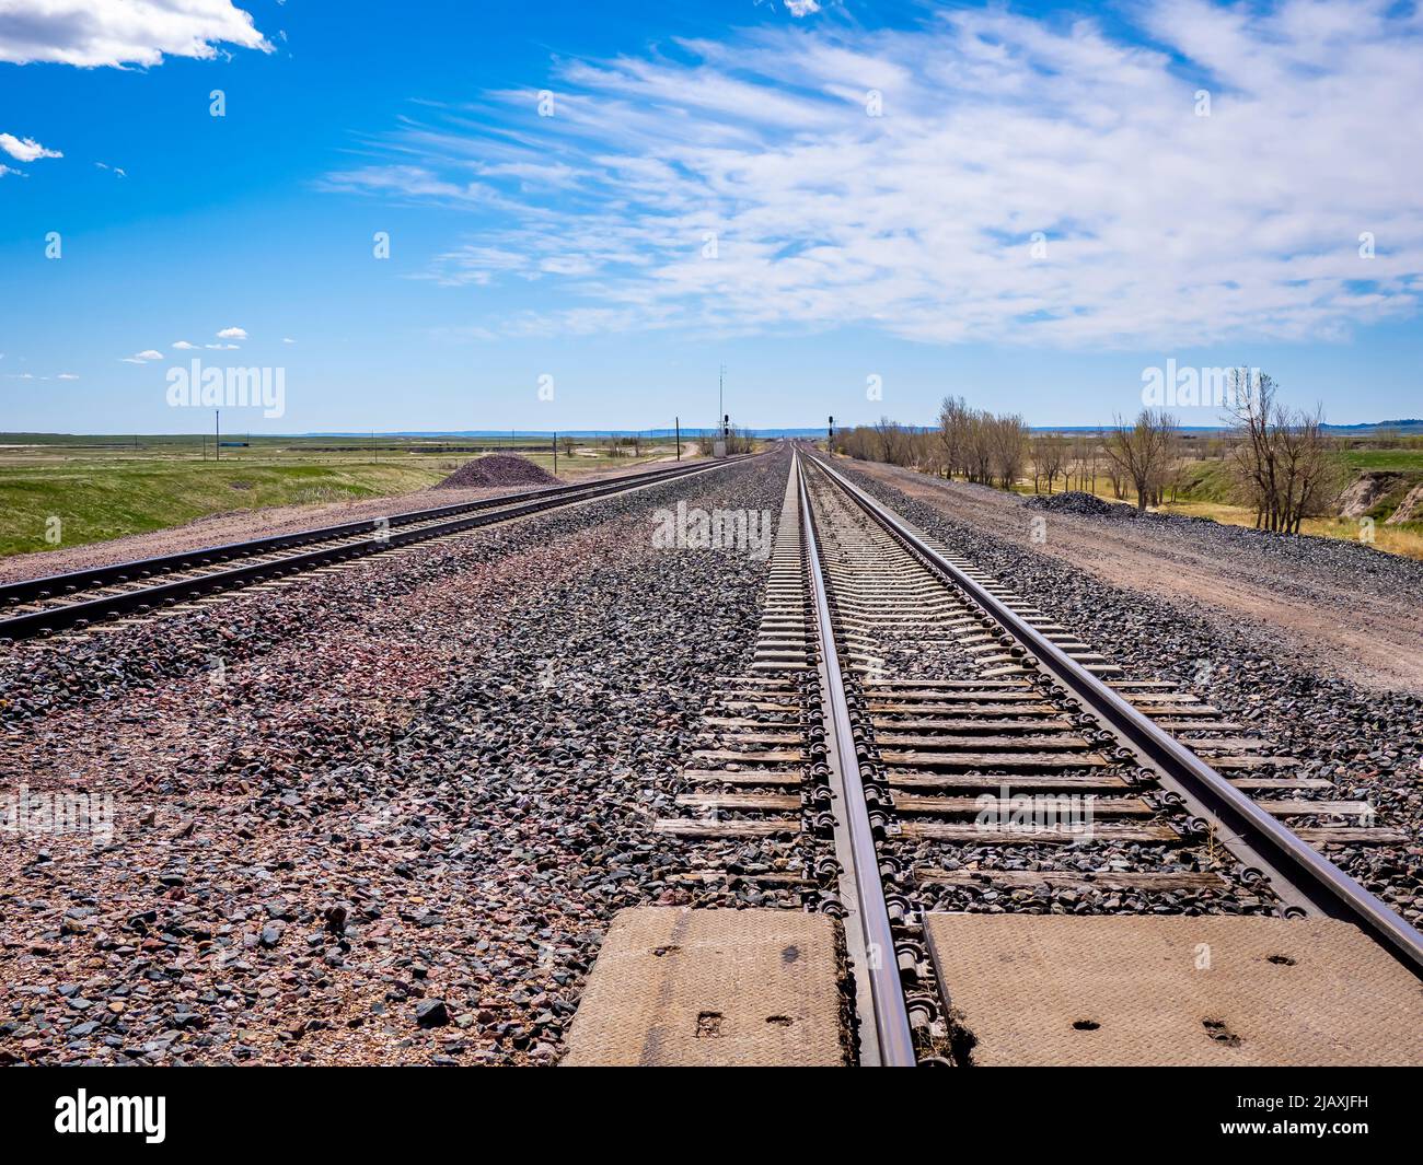
M 729 899 L 650 822 L 748 661 L 766 563 L 653 549 L 652 511 L 774 514 L 784 478 L 734 465 L 0 654 L 0 789 L 117 802 L 108 845 L 0 848 L 0 1061 L 556 1060 L 615 910 Z

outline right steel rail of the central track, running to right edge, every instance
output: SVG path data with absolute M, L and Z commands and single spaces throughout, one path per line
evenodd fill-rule
M 1275 821 L 1191 750 L 1153 724 L 1110 686 L 926 545 L 894 511 L 820 458 L 808 459 L 830 481 L 841 486 L 869 518 L 986 610 L 1036 657 L 1040 667 L 1056 676 L 1086 707 L 1151 761 L 1163 777 L 1163 787 L 1177 792 L 1198 815 L 1214 816 L 1261 855 L 1266 863 L 1265 873 L 1292 886 L 1309 905 L 1306 913 L 1313 912 L 1353 923 L 1423 979 L 1423 936 L 1402 916 L 1288 826 Z

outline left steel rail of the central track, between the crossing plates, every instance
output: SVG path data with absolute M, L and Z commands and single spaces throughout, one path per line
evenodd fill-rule
M 835 647 L 835 629 L 830 615 L 830 595 L 825 589 L 825 578 L 820 563 L 820 543 L 815 538 L 815 516 L 811 511 L 805 469 L 798 454 L 795 455 L 795 467 L 801 525 L 805 535 L 805 560 L 810 568 L 815 630 L 820 637 L 821 700 L 827 710 L 825 727 L 834 744 L 827 757 L 838 774 L 840 792 L 842 794 L 841 802 L 852 866 L 847 873 L 854 883 L 859 926 L 865 937 L 865 950 L 861 954 L 869 982 L 874 1038 L 878 1046 L 879 1064 L 889 1068 L 912 1068 L 918 1058 L 904 1001 L 904 984 L 899 982 L 899 960 L 895 954 L 889 910 L 885 906 L 884 882 L 879 878 L 879 855 L 875 851 L 869 811 L 865 804 L 864 777 L 859 771 L 859 757 L 855 754 L 854 725 L 850 723 L 844 676 L 840 671 L 840 653 Z

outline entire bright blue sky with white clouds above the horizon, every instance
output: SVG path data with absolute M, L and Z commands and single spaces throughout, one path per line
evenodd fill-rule
M 0 0 L 0 430 L 196 431 L 194 358 L 282 368 L 228 421 L 273 432 L 707 425 L 719 364 L 756 427 L 1103 422 L 1168 358 L 1420 415 L 1420 50 L 1383 3 Z

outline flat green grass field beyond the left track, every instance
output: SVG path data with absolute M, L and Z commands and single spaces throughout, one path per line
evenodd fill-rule
M 430 444 L 373 449 L 346 438 L 253 438 L 246 448 L 223 448 L 216 461 L 211 440 L 203 449 L 198 437 L 141 437 L 135 448 L 134 438 L 0 434 L 0 556 L 168 529 L 212 514 L 408 494 L 477 455 L 417 451 Z M 546 441 L 517 444 L 528 447 L 522 457 L 552 471 Z M 630 468 L 670 451 L 649 442 L 642 457 L 612 457 L 606 445 L 579 442 L 572 458 L 559 451 L 558 475 Z M 46 541 L 55 529 L 51 519 L 58 519 L 58 543 Z

